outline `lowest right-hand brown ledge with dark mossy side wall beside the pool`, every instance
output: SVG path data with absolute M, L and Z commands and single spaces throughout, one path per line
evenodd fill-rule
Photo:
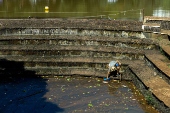
M 170 108 L 169 106 L 167 106 L 168 104 L 167 102 L 169 100 L 168 101 L 166 100 L 166 97 L 168 97 L 168 95 L 166 96 L 164 95 L 166 94 L 165 89 L 166 88 L 168 89 L 169 87 L 168 84 L 159 77 L 154 76 L 155 77 L 154 78 L 153 77 L 154 72 L 152 71 L 152 69 L 147 67 L 145 64 L 143 64 L 143 66 L 144 68 L 142 67 L 142 65 L 139 65 L 135 68 L 131 68 L 132 72 L 130 72 L 129 74 L 132 77 L 133 83 L 142 92 L 148 103 L 150 103 L 156 109 L 158 109 L 159 112 L 169 113 Z M 159 85 L 160 82 L 161 84 Z M 165 87 L 161 85 L 165 85 Z M 163 100 L 166 101 L 166 104 L 163 102 Z

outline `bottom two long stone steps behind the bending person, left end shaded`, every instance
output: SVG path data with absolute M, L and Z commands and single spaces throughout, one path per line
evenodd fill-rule
M 56 59 L 55 57 L 6 56 L 1 57 L 0 71 L 2 75 L 3 73 L 8 75 L 8 72 L 10 72 L 11 75 L 14 73 L 21 76 L 34 73 L 41 76 L 82 75 L 106 77 L 108 63 L 112 60 L 117 59 L 93 57 L 60 57 Z M 143 60 L 126 59 L 120 59 L 119 61 L 122 63 L 120 72 L 123 74 L 124 80 L 130 80 L 129 76 L 124 75 L 128 65 L 143 62 Z

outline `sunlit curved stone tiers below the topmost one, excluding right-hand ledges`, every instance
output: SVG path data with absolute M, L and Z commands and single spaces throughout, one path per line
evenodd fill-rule
M 1 59 L 5 59 L 2 65 L 6 60 L 23 62 L 25 70 L 48 76 L 106 77 L 107 64 L 117 59 L 123 74 L 129 64 L 144 59 L 144 50 L 158 48 L 151 39 L 62 34 L 3 35 L 0 44 Z

